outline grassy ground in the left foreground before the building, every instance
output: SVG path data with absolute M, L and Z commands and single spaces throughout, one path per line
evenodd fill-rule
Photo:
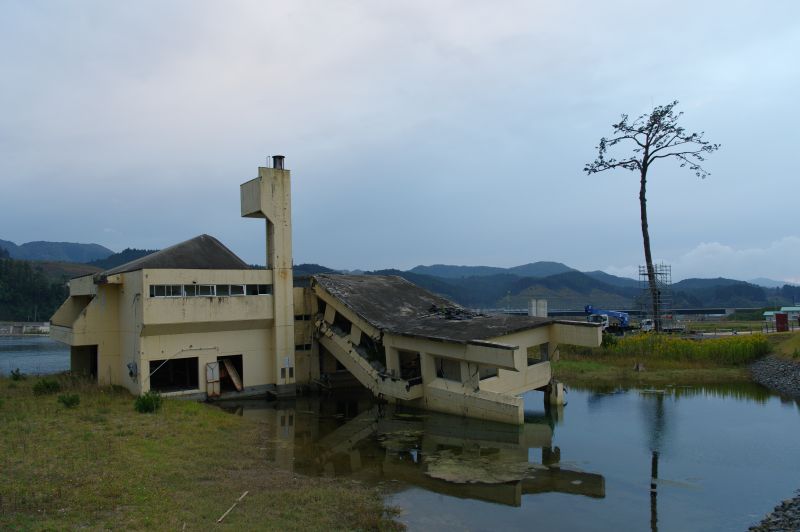
M 66 376 L 60 392 L 35 395 L 38 380 L 0 378 L 0 529 L 398 527 L 374 489 L 269 463 L 256 422 L 179 400 L 139 414 L 127 391 Z

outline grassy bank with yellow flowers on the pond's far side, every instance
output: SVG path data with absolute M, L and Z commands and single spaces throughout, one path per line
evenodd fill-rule
M 795 346 L 795 344 L 797 344 Z M 715 384 L 749 380 L 747 365 L 768 353 L 800 348 L 800 333 L 705 340 L 640 334 L 604 347 L 562 346 L 554 376 L 568 384 Z M 644 365 L 644 371 L 634 366 Z

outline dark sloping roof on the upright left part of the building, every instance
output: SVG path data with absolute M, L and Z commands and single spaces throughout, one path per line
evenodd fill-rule
M 111 268 L 97 276 L 102 278 L 145 269 L 249 270 L 251 268 L 213 236 L 200 235 Z

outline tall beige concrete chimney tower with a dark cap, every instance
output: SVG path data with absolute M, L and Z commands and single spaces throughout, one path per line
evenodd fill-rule
M 267 354 L 267 375 L 278 395 L 295 393 L 294 297 L 292 280 L 291 176 L 284 156 L 272 157 L 272 168 L 259 167 L 258 177 L 240 187 L 242 216 L 266 220 L 267 269 L 272 271 L 273 353 Z

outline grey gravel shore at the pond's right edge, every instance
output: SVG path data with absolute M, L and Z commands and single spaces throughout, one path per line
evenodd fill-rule
M 775 355 L 762 358 L 750 366 L 753 380 L 781 395 L 800 398 L 800 363 Z M 800 495 L 787 499 L 767 514 L 757 525 L 750 527 L 755 532 L 778 532 L 800 530 Z

